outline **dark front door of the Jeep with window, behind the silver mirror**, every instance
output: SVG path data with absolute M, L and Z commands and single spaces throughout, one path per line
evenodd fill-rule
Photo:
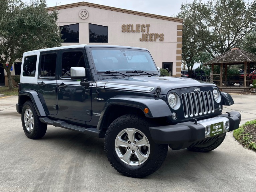
M 80 85 L 80 79 L 71 79 L 71 67 L 86 67 L 84 49 L 66 49 L 61 51 L 61 68 L 57 79 L 58 114 L 56 118 L 77 123 L 89 122 L 91 116 L 91 87 Z M 87 78 L 87 77 L 86 77 Z M 87 78 L 87 80 L 89 80 Z

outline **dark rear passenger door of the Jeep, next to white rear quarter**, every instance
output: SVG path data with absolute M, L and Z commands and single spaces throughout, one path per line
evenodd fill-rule
M 45 112 L 48 115 L 57 114 L 56 92 L 56 62 L 58 51 L 40 53 L 38 66 L 37 90 Z

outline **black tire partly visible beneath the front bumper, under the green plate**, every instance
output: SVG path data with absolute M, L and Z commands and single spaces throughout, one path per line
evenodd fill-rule
M 214 139 L 212 141 L 209 141 L 200 145 L 189 147 L 187 149 L 189 151 L 196 151 L 196 152 L 209 152 L 219 147 L 224 141 L 225 137 L 226 137 L 226 133 L 222 137 L 219 137 L 217 139 Z

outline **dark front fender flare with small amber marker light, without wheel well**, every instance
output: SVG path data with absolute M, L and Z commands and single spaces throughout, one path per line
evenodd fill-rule
M 144 113 L 145 117 L 147 118 L 171 116 L 170 108 L 163 100 L 159 98 L 119 95 L 119 96 L 110 98 L 106 101 L 97 125 L 98 130 L 101 129 L 101 126 L 104 122 L 106 111 L 112 105 L 134 107 L 142 110 L 143 113 L 144 113 L 144 109 L 148 108 L 149 112 L 147 114 Z

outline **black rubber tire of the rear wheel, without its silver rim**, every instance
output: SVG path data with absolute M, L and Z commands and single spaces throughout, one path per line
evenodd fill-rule
M 24 122 L 24 113 L 25 113 L 26 109 L 30 109 L 33 114 L 34 126 L 33 126 L 33 129 L 31 132 L 27 131 L 25 122 Z M 24 105 L 22 107 L 22 112 L 21 112 L 21 122 L 22 122 L 23 131 L 29 139 L 40 139 L 46 133 L 47 124 L 40 122 L 32 101 L 26 101 L 24 103 Z

